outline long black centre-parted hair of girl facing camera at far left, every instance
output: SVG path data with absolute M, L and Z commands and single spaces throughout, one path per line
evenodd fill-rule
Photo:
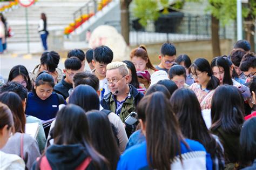
M 29 78 L 29 72 L 28 70 L 26 70 L 26 67 L 24 65 L 16 65 L 12 67 L 9 73 L 8 82 L 12 81 L 14 78 L 16 78 L 19 75 L 23 76 L 24 80 L 26 81 L 26 89 L 28 91 L 31 91 L 32 84 Z

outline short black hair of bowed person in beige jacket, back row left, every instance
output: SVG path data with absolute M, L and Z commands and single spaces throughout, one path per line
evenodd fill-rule
M 45 51 L 43 52 L 40 62 L 41 65 L 46 65 L 47 70 L 50 72 L 55 72 L 59 64 L 59 54 L 55 51 Z

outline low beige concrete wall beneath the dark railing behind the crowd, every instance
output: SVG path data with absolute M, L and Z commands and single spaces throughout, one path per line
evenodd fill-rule
M 209 62 L 211 62 L 212 55 L 212 44 L 211 40 L 194 40 L 194 41 L 184 41 L 184 42 L 173 42 L 176 46 L 177 56 L 181 54 L 186 54 L 190 56 L 191 61 L 193 62 L 196 58 L 206 58 Z M 231 39 L 221 39 L 220 40 L 220 50 L 221 55 L 228 55 L 232 50 L 232 40 Z M 133 49 L 137 46 L 131 46 Z M 153 64 L 159 64 L 159 51 L 161 44 L 147 44 L 147 52 L 149 53 L 150 60 Z M 214 56 L 216 57 L 216 56 Z

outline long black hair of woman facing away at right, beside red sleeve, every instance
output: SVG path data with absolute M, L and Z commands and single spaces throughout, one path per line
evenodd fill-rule
M 240 134 L 244 123 L 244 104 L 237 87 L 219 86 L 212 96 L 211 130 L 221 127 L 225 133 Z

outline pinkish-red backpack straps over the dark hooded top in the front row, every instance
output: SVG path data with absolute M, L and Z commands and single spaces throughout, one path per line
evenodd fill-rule
M 89 164 L 91 162 L 91 158 L 88 157 L 86 158 L 77 168 L 76 170 L 82 170 L 82 169 L 86 169 Z M 49 161 L 48 159 L 46 158 L 46 156 L 44 155 L 42 158 L 41 158 L 41 161 L 39 161 L 39 167 L 40 169 L 44 169 L 44 170 L 51 170 L 51 165 L 49 164 Z

